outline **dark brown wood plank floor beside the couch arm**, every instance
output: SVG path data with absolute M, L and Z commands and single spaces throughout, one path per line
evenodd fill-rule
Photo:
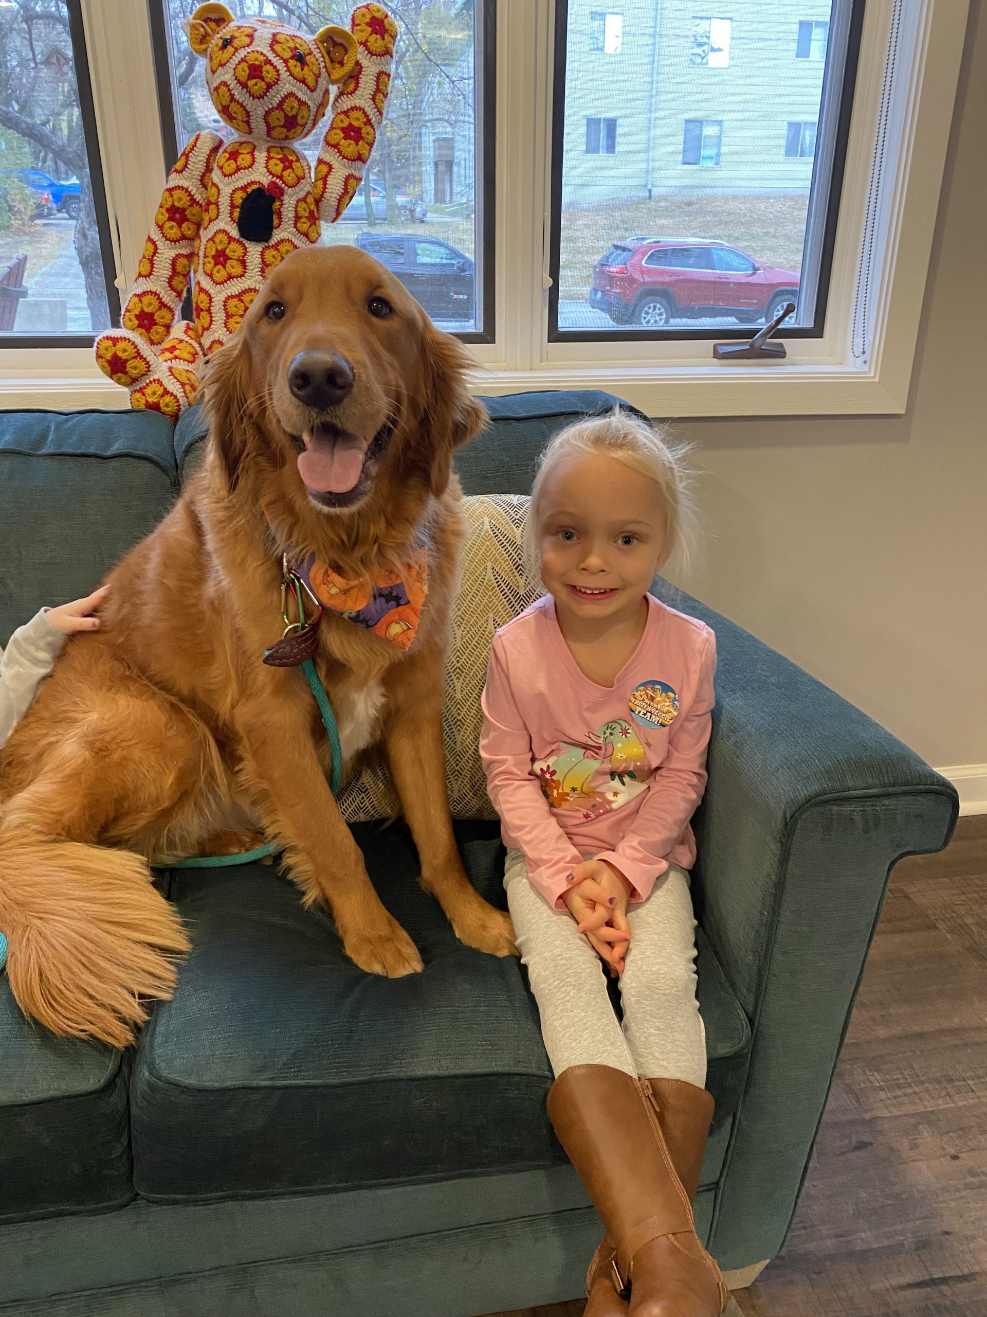
M 795 1222 L 736 1297 L 746 1317 L 987 1317 L 987 817 L 895 868 Z

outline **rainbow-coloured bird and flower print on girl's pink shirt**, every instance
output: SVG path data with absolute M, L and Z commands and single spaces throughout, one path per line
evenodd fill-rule
M 630 720 L 616 718 L 587 732 L 586 743 L 562 741 L 558 753 L 536 760 L 532 772 L 554 810 L 578 810 L 590 819 L 640 795 L 653 769 Z

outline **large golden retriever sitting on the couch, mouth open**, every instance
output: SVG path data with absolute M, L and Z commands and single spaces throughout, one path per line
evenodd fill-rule
M 54 1033 L 129 1043 L 188 947 L 149 861 L 246 849 L 258 830 L 283 847 L 304 902 L 329 906 L 355 964 L 421 969 L 333 799 L 304 676 L 262 661 L 284 631 L 286 552 L 370 581 L 426 545 L 411 647 L 328 612 L 316 665 L 345 770 L 383 745 L 425 890 L 468 946 L 515 950 L 509 918 L 463 872 L 445 785 L 463 535 L 451 453 L 486 420 L 463 365 L 459 344 L 353 248 L 287 257 L 212 360 L 203 469 L 109 574 L 100 631 L 68 643 L 3 756 L 8 973 Z

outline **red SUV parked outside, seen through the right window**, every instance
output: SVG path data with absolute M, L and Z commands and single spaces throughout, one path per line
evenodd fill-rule
M 663 329 L 683 317 L 774 320 L 799 299 L 799 275 L 772 270 L 725 242 L 626 238 L 594 266 L 590 306 L 615 324 Z

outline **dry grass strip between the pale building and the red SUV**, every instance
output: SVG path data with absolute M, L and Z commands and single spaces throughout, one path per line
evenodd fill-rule
M 782 270 L 800 270 L 808 194 L 796 196 L 657 196 L 567 205 L 562 211 L 559 296 L 583 298 L 594 262 L 634 236 L 719 238 Z

